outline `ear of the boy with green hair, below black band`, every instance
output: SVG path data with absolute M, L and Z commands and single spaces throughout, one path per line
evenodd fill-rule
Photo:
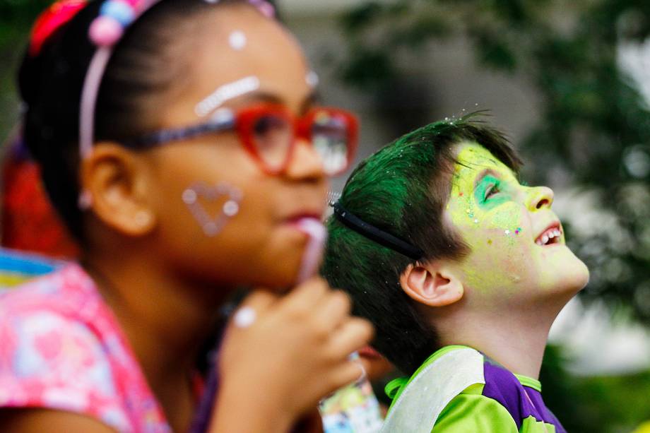
M 453 304 L 465 292 L 456 271 L 438 261 L 408 265 L 402 272 L 399 283 L 411 299 L 430 307 Z

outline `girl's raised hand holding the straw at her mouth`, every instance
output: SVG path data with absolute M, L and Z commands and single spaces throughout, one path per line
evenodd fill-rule
M 213 432 L 285 432 L 321 398 L 362 374 L 348 355 L 370 341 L 372 326 L 350 316 L 348 296 L 321 278 L 284 297 L 256 290 L 244 307 L 255 319 L 245 328 L 231 323 L 226 331 L 213 416 L 213 427 L 223 427 Z

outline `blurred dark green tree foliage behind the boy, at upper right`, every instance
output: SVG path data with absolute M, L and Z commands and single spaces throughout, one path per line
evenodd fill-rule
M 395 83 L 408 82 L 403 66 L 459 36 L 480 66 L 531 80 L 542 113 L 517 143 L 538 169 L 528 180 L 549 182 L 560 171 L 613 215 L 600 230 L 569 233 L 591 269 L 583 297 L 650 324 L 650 100 L 617 66 L 620 47 L 641 47 L 650 35 L 650 2 L 365 1 L 341 28 L 349 41 L 341 78 L 365 93 L 395 93 Z M 641 65 L 650 62 L 646 51 Z M 640 68 L 650 88 L 650 69 Z

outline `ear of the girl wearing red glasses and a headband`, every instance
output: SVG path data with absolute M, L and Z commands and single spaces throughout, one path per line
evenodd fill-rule
M 114 143 L 98 143 L 82 162 L 81 187 L 95 216 L 122 235 L 147 235 L 156 225 L 149 182 L 136 154 Z

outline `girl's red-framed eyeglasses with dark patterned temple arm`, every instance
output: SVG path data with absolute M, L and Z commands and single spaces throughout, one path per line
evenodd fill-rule
M 157 131 L 128 144 L 154 147 L 230 130 L 237 131 L 244 149 L 267 174 L 286 170 L 297 138 L 303 138 L 321 156 L 326 174 L 336 176 L 345 172 L 354 158 L 359 124 L 354 114 L 338 108 L 314 108 L 302 117 L 295 117 L 282 105 L 255 105 L 237 112 L 218 109 L 206 123 Z

